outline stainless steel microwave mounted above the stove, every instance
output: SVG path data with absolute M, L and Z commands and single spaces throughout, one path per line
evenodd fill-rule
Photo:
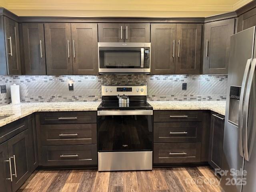
M 99 73 L 150 73 L 150 43 L 98 43 Z

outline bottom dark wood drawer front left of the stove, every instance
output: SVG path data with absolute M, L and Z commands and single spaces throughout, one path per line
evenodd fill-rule
M 42 166 L 97 165 L 97 145 L 42 146 Z

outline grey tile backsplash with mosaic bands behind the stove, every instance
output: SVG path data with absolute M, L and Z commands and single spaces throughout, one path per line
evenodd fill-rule
M 148 85 L 148 100 L 226 100 L 227 75 L 99 75 L 0 76 L 7 93 L 0 105 L 9 104 L 10 85 L 20 85 L 21 102 L 100 101 L 101 85 Z M 74 83 L 74 91 L 68 83 Z M 187 83 L 187 90 L 182 90 Z

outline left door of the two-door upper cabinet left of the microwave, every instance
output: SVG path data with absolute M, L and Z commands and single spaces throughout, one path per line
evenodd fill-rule
M 46 69 L 48 75 L 72 75 L 70 23 L 45 23 Z

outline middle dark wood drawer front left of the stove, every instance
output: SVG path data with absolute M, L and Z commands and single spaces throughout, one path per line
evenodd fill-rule
M 97 124 L 42 124 L 42 145 L 97 144 Z

